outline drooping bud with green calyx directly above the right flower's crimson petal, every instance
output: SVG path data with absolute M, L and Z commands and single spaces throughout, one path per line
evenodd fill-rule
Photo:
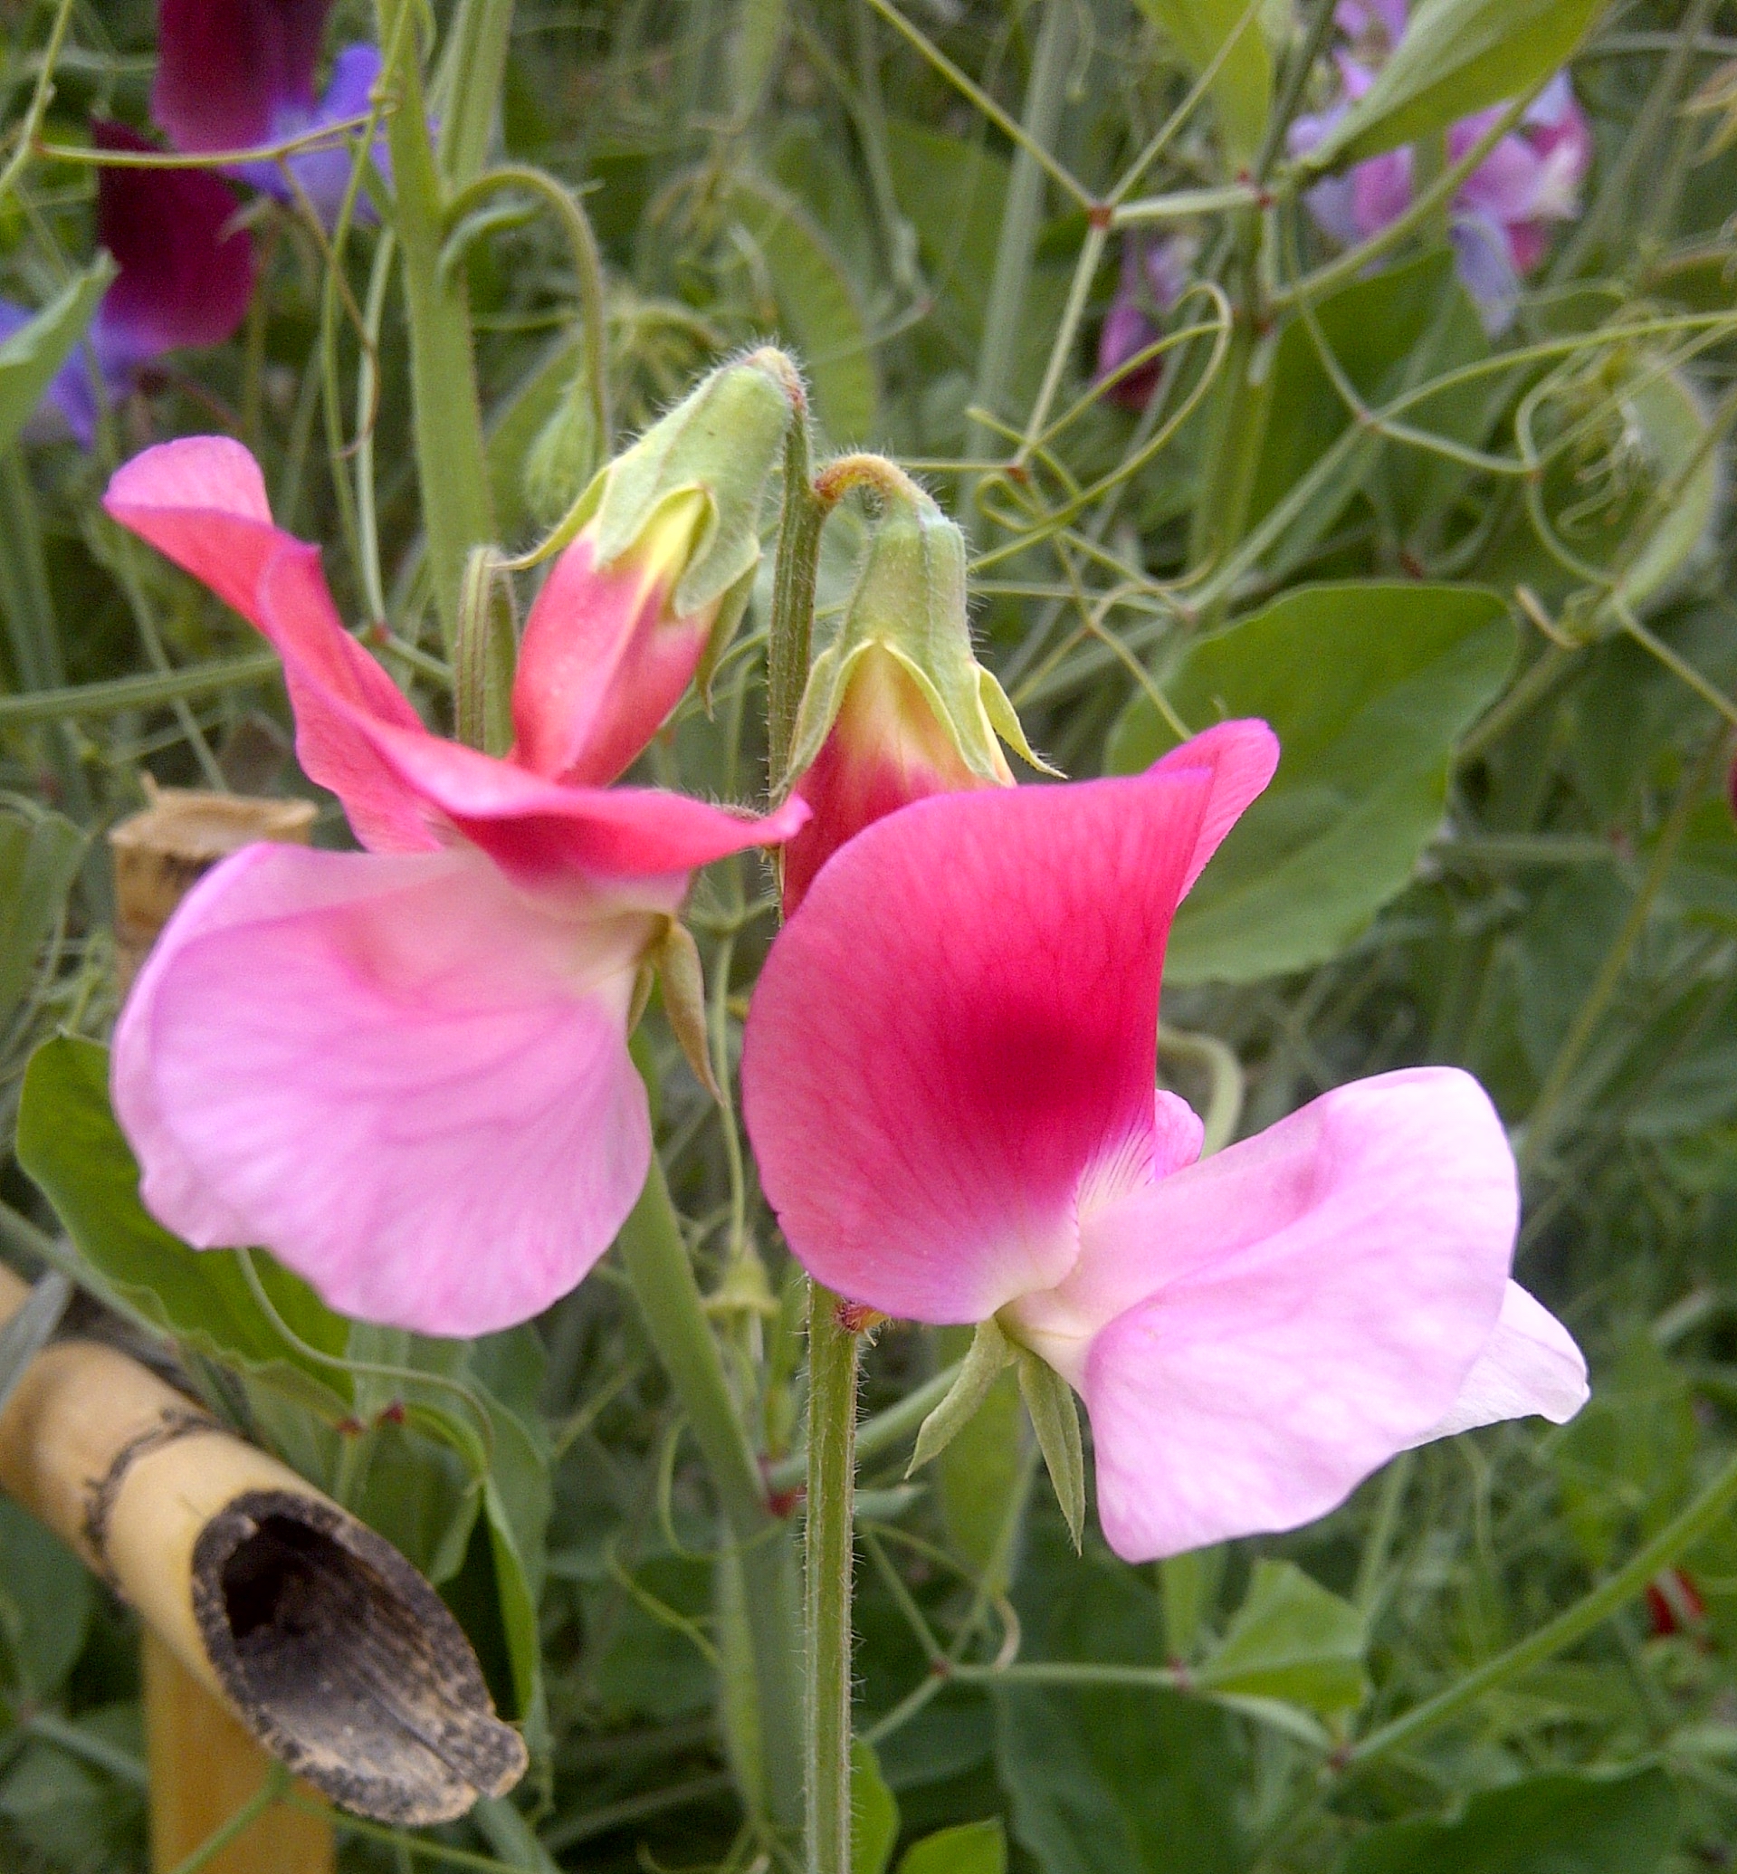
M 924 795 L 1012 787 L 1001 742 L 1044 766 L 1001 684 L 971 654 L 965 536 L 914 483 L 883 495 L 856 590 L 796 720 L 791 772 L 813 817 L 783 849 L 787 913 L 838 847 L 883 813 Z

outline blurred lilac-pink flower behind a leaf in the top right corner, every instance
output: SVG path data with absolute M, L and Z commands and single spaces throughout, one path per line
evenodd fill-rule
M 1349 37 L 1336 54 L 1342 97 L 1323 114 L 1291 126 L 1291 152 L 1314 150 L 1375 82 L 1375 69 L 1405 32 L 1405 0 L 1340 0 L 1334 19 Z M 1458 161 L 1490 129 L 1501 107 L 1462 118 L 1448 129 L 1447 156 Z M 1550 229 L 1580 212 L 1580 186 L 1593 161 L 1593 133 L 1559 71 L 1465 178 L 1452 201 L 1450 238 L 1460 279 L 1477 300 L 1486 328 L 1507 328 L 1520 304 L 1520 281 L 1550 245 Z M 1387 150 L 1344 176 L 1329 176 L 1304 201 L 1323 232 L 1345 247 L 1385 229 L 1411 204 L 1413 154 Z

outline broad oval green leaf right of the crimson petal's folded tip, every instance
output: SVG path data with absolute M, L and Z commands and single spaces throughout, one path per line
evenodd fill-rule
M 1299 587 L 1190 645 L 1164 684 L 1182 721 L 1261 716 L 1282 755 L 1179 911 L 1165 980 L 1254 982 L 1344 950 L 1411 879 L 1454 740 L 1512 660 L 1493 592 L 1400 583 Z M 1136 697 L 1106 766 L 1139 772 L 1175 742 Z

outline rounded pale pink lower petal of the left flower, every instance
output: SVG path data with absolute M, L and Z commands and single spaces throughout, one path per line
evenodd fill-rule
M 528 1319 L 645 1182 L 626 1010 L 652 928 L 549 916 L 476 855 L 245 849 L 165 930 L 116 1038 L 146 1205 L 362 1319 Z

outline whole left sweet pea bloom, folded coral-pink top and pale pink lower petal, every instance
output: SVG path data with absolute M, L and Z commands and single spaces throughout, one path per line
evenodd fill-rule
M 637 693 L 568 733 L 577 677 L 517 684 L 530 755 L 431 735 L 345 632 L 317 549 L 272 525 L 236 442 L 146 450 L 105 504 L 272 641 L 302 766 L 367 847 L 247 847 L 163 931 L 112 1061 L 146 1207 L 199 1248 L 270 1248 L 362 1319 L 528 1319 L 607 1250 L 645 1182 L 628 1016 L 690 873 L 783 840 L 806 810 L 753 821 L 575 785 L 590 746 L 661 720 Z M 570 626 L 607 677 L 594 603 L 631 626 L 620 581 L 557 573 L 528 635 Z

